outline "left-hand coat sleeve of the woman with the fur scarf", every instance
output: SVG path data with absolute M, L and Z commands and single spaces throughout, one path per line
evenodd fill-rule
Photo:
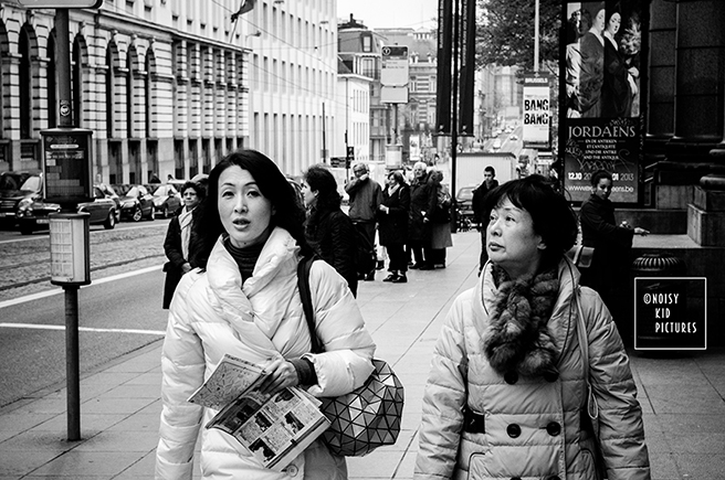
M 466 404 L 463 319 L 470 314 L 467 306 L 472 297 L 469 290 L 455 300 L 435 343 L 423 394 L 414 480 L 441 480 L 453 476 Z

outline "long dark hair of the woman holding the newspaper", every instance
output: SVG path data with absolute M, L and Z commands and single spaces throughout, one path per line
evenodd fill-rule
M 237 150 L 222 159 L 209 173 L 209 185 L 207 199 L 202 206 L 199 220 L 195 222 L 195 230 L 200 239 L 199 266 L 204 268 L 209 254 L 217 239 L 224 233 L 224 227 L 219 217 L 219 178 L 230 167 L 240 167 L 246 170 L 264 195 L 274 207 L 272 226 L 286 230 L 297 241 L 303 255 L 311 253 L 305 239 L 303 222 L 305 211 L 284 174 L 277 166 L 263 153 L 256 150 Z

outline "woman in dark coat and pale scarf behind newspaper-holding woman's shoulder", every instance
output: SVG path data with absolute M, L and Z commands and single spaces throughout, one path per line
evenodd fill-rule
M 176 286 L 181 276 L 191 271 L 200 264 L 196 255 L 196 236 L 193 224 L 200 209 L 197 206 L 204 199 L 204 189 L 196 182 L 186 182 L 181 188 L 183 207 L 169 222 L 164 241 L 164 252 L 169 259 L 164 265 L 166 281 L 164 282 L 164 308 L 168 309 L 174 298 Z

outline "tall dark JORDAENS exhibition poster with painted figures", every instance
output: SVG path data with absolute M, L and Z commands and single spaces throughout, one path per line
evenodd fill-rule
M 567 1 L 560 64 L 565 78 L 559 131 L 564 186 L 572 201 L 589 198 L 597 170 L 612 173 L 610 200 L 637 203 L 642 159 L 641 88 L 645 0 Z

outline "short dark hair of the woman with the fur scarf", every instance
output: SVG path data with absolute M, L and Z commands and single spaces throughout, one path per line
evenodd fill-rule
M 574 246 L 579 233 L 577 216 L 569 202 L 554 190 L 554 185 L 539 174 L 512 180 L 493 189 L 484 201 L 484 218 L 508 199 L 516 207 L 525 210 L 534 221 L 534 232 L 546 244 L 543 266 L 550 268 Z

